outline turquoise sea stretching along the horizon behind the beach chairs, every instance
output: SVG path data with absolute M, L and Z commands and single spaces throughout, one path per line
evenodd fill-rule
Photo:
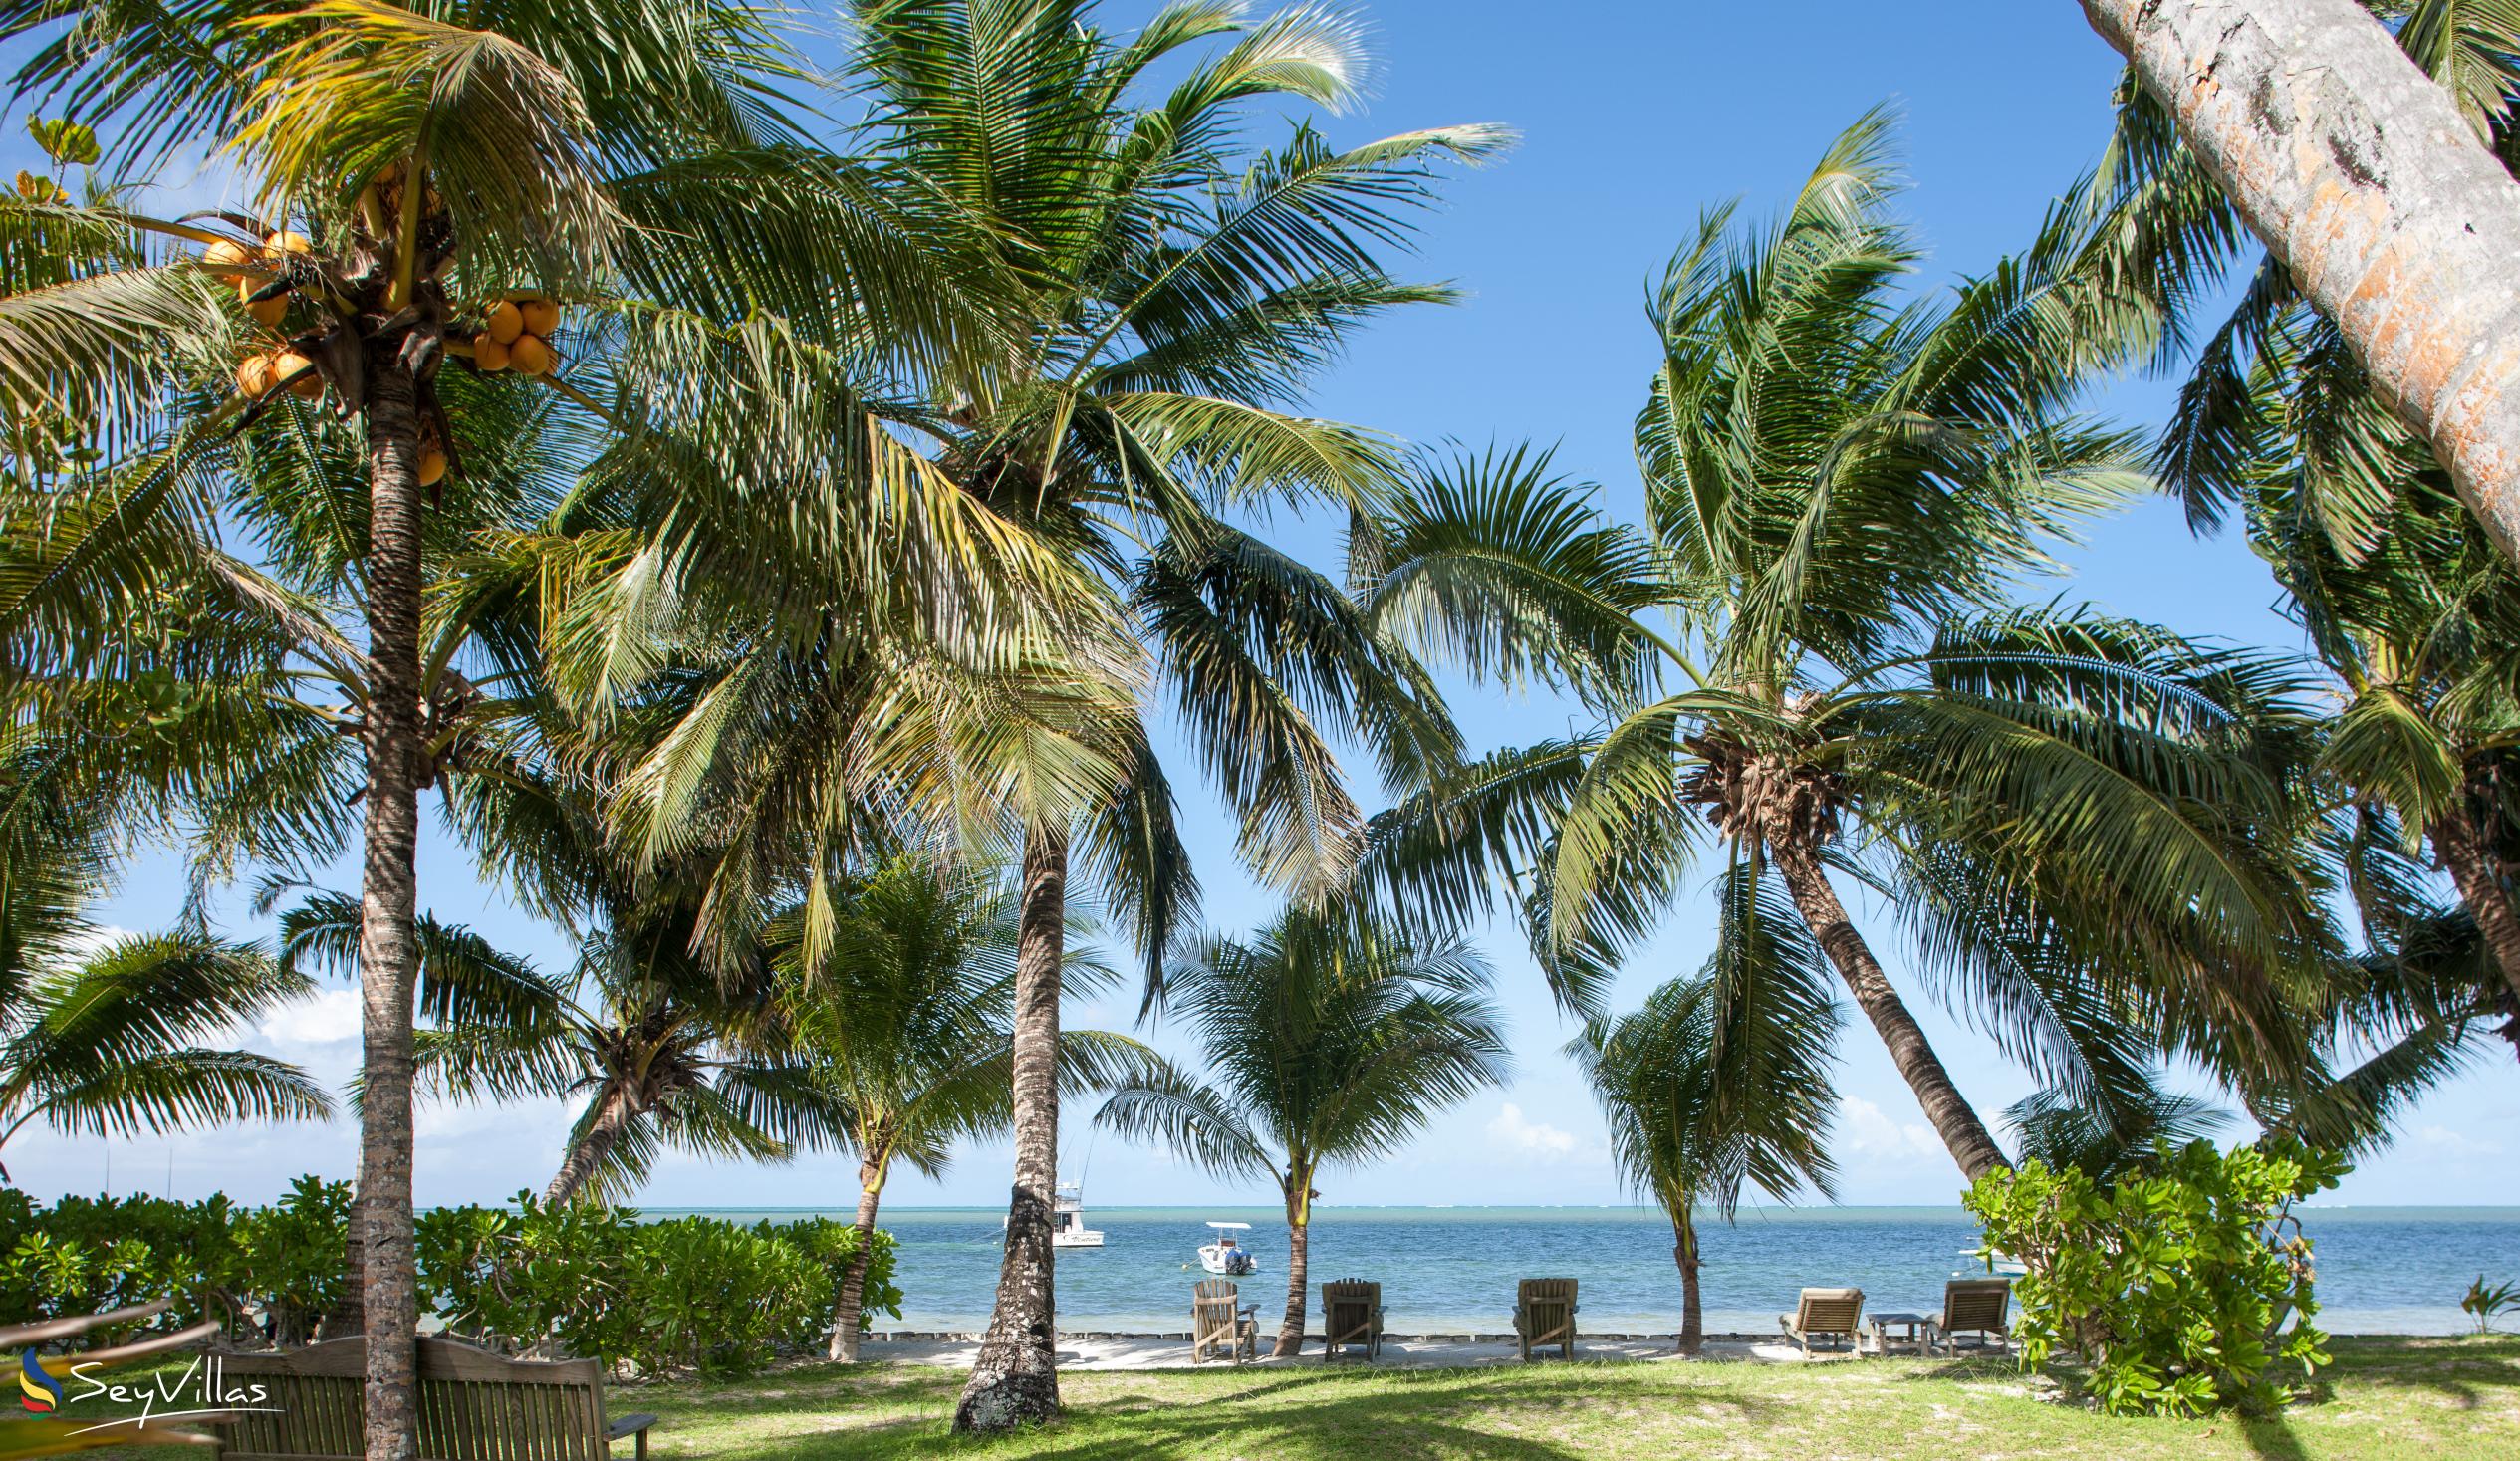
M 806 1217 L 809 1209 L 708 1209 L 713 1217 Z M 660 1212 L 663 1217 L 663 1212 Z M 847 1219 L 847 1212 L 829 1212 Z M 902 1330 L 978 1330 L 998 1285 L 998 1222 L 980 1209 L 885 1209 L 900 1239 Z M 1252 1224 L 1260 1272 L 1242 1280 L 1263 1317 L 1285 1302 L 1285 1217 L 1275 1209 L 1086 1209 L 1099 1249 L 1058 1252 L 1066 1330 L 1179 1330 L 1189 1285 L 1207 1277 L 1207 1219 Z M 2321 1322 L 2331 1333 L 2429 1335 L 2470 1327 L 2460 1295 L 2480 1272 L 2520 1280 L 2515 1207 L 2341 1207 L 2303 1212 L 2318 1249 Z M 1802 1285 L 1857 1285 L 1872 1310 L 1938 1307 L 1943 1280 L 1973 1270 L 1978 1229 L 1956 1207 L 1830 1207 L 1744 1212 L 1701 1224 L 1709 1330 L 1774 1330 Z M 1630 1207 L 1320 1207 L 1313 1217 L 1313 1305 L 1320 1280 L 1381 1280 L 1399 1333 L 1497 1333 L 1520 1277 L 1575 1277 L 1590 1333 L 1671 1333 L 1681 1280 L 1671 1224 Z

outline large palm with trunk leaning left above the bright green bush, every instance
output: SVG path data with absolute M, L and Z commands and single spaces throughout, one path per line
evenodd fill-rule
M 1915 244 L 1887 217 L 1872 113 L 1774 232 L 1716 209 L 1673 259 L 1638 418 L 1646 534 L 1545 461 L 1434 466 L 1356 564 L 1376 612 L 1477 673 L 1570 685 L 1603 728 L 1404 804 L 1363 869 L 1383 902 L 1452 917 L 1487 872 L 1537 861 L 1542 965 L 1585 1008 L 1711 829 L 1782 879 L 1971 1179 L 2003 1151 L 1832 867 L 1887 894 L 2016 1055 L 2079 1088 L 2134 1088 L 2145 1030 L 2296 1050 L 2271 990 L 2323 924 L 2265 746 L 2306 720 L 2286 675 L 2003 607 L 2046 564 L 2041 537 L 2142 486 L 2134 438 L 2071 411 L 2134 330 L 2079 270 L 2079 212 L 1900 302 Z M 1638 622 L 1653 607 L 1678 640 Z

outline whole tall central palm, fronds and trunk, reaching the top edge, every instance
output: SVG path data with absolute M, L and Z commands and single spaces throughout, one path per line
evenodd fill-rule
M 1038 552 L 1026 562 L 1058 579 L 1056 607 L 985 652 L 905 655 L 864 647 L 862 625 L 895 612 L 885 584 L 867 612 L 839 597 L 814 612 L 769 605 L 776 632 L 701 645 L 716 662 L 698 665 L 678 715 L 655 718 L 670 730 L 630 763 L 617 821 L 643 846 L 723 849 L 713 909 L 731 937 L 759 927 L 784 894 L 779 872 L 799 861 L 822 869 L 806 897 L 824 912 L 806 927 L 829 927 L 827 861 L 869 826 L 920 841 L 940 824 L 995 821 L 1026 927 L 1016 1181 L 988 1340 L 958 1408 L 960 1428 L 993 1431 L 1058 1408 L 1053 1055 L 1071 861 L 1126 919 L 1152 990 L 1197 897 L 1172 781 L 1139 723 L 1142 685 L 1172 680 L 1242 819 L 1240 854 L 1293 894 L 1333 887 L 1361 829 L 1318 715 L 1363 723 L 1404 778 L 1452 756 L 1416 665 L 1333 582 L 1227 514 L 1366 504 L 1391 486 L 1389 443 L 1293 403 L 1358 322 L 1449 297 L 1394 280 L 1378 254 L 1406 242 L 1436 161 L 1487 156 L 1502 134 L 1439 128 L 1341 151 L 1298 126 L 1275 149 L 1245 146 L 1245 118 L 1280 101 L 1358 96 L 1356 28 L 1326 10 L 1245 23 L 1182 0 L 1134 38 L 1096 28 L 1089 0 L 867 0 L 852 23 L 867 103 L 857 146 L 887 184 L 965 222 L 990 280 L 1016 285 L 995 350 L 915 360 L 887 383 L 885 438 L 922 443 L 902 476 L 953 484 L 985 542 Z M 1182 60 L 1212 38 L 1230 43 Z M 1149 93 L 1164 63 L 1182 76 Z M 756 511 L 771 506 L 784 499 L 764 484 Z M 607 630 L 580 642 L 605 647 L 655 645 L 670 592 L 718 592 L 670 554 L 615 554 L 590 582 L 607 592 L 587 594 L 582 620 Z M 670 650 L 633 673 L 595 655 L 580 680 L 668 690 L 670 675 L 648 670 L 683 670 L 690 637 Z M 867 773 L 869 753 L 912 751 L 925 763 Z M 953 816 L 902 816 L 907 799 Z

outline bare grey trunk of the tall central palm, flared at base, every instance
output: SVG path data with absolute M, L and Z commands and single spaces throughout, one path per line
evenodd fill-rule
M 1023 834 L 1016 935 L 1016 1191 L 1005 1262 L 980 1358 L 953 1411 L 960 1433 L 1011 1431 L 1058 1416 L 1058 1295 L 1051 1244 L 1058 1186 L 1058 962 L 1066 952 L 1068 834 Z

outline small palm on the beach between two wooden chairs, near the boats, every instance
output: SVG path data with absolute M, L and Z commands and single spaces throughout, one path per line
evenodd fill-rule
M 1247 945 L 1202 940 L 1169 970 L 1207 1081 L 1164 1071 L 1094 1116 L 1220 1176 L 1273 1176 L 1285 1199 L 1285 1320 L 1303 1350 L 1313 1181 L 1396 1151 L 1429 1116 L 1507 1078 L 1487 962 L 1452 937 L 1411 940 L 1343 912 L 1288 909 Z

